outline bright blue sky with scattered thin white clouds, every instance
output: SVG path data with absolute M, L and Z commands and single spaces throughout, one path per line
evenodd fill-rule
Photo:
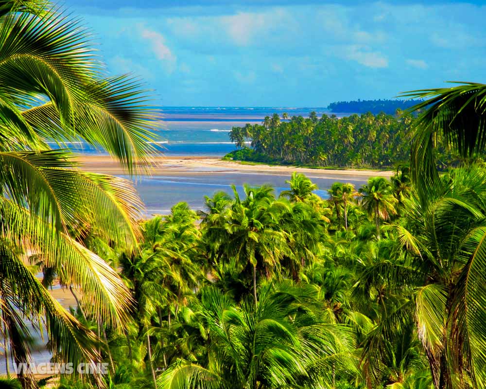
M 486 82 L 486 0 L 66 0 L 164 106 L 327 106 Z

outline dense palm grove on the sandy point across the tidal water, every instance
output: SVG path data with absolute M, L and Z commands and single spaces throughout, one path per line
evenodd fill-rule
M 411 129 L 416 118 L 409 112 L 397 111 L 396 116 L 368 112 L 343 118 L 335 115 L 318 118 L 312 112 L 309 118 L 286 119 L 286 114 L 282 118 L 274 114 L 262 124 L 233 127 L 229 137 L 240 150 L 226 158 L 375 168 L 393 167 L 410 159 Z M 441 167 L 457 160 L 446 148 L 438 156 Z

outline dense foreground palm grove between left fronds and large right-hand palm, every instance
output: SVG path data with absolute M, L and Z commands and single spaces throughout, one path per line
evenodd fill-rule
M 145 222 L 141 254 L 121 253 L 137 308 L 131 352 L 112 347 L 117 382 L 143 372 L 159 388 L 430 387 L 416 306 L 433 300 L 416 303 L 422 246 L 406 232 L 406 177 L 336 183 L 322 199 L 295 173 L 279 198 L 247 185 L 206 197 L 198 228 L 184 203 Z

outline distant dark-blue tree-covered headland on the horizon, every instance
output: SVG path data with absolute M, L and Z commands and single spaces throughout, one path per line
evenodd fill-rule
M 377 115 L 380 112 L 387 115 L 395 115 L 397 109 L 405 110 L 416 104 L 420 100 L 360 100 L 358 101 L 338 101 L 331 103 L 328 109 L 331 112 L 352 112 L 352 113 L 366 113 L 371 112 Z

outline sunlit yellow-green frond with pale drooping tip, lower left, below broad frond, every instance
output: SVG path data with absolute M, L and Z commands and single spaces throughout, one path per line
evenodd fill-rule
M 0 197 L 0 224 L 3 236 L 22 247 L 29 242 L 47 267 L 56 269 L 61 283 L 82 292 L 87 313 L 100 315 L 106 322 L 121 325 L 131 307 L 131 297 L 118 274 L 104 260 L 67 234 L 52 228 L 11 200 Z M 18 231 L 22 231 L 18 235 Z

